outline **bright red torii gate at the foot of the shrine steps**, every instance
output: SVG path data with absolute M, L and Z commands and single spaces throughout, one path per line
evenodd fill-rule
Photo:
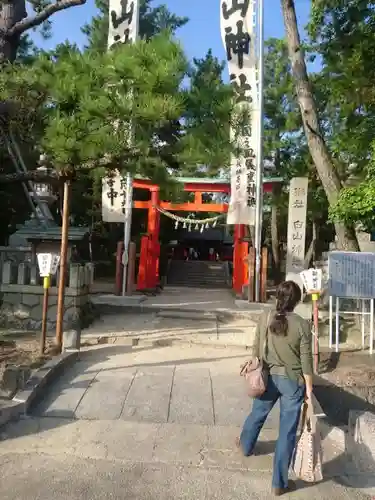
M 207 178 L 177 178 L 183 183 L 183 190 L 194 193 L 194 201 L 186 203 L 171 203 L 160 200 L 160 187 L 147 179 L 133 179 L 133 189 L 148 189 L 149 201 L 133 201 L 133 208 L 148 210 L 147 235 L 141 238 L 141 252 L 137 278 L 138 290 L 150 290 L 159 284 L 158 261 L 160 255 L 159 230 L 160 212 L 157 207 L 168 211 L 185 212 L 217 212 L 226 213 L 226 203 L 203 203 L 203 193 L 230 194 L 230 184 L 224 180 Z M 272 185 L 281 179 L 264 179 L 264 192 L 272 192 Z M 234 228 L 233 249 L 233 289 L 242 293 L 243 285 L 248 280 L 247 256 L 249 244 L 243 241 L 246 226 L 237 224 Z

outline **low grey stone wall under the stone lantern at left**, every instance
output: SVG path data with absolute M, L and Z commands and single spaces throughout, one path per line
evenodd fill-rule
M 58 276 L 49 289 L 48 330 L 56 327 Z M 65 301 L 64 330 L 86 326 L 92 306 L 90 287 L 93 266 L 71 264 L 68 270 Z M 0 280 L 0 326 L 21 330 L 40 330 L 42 324 L 43 286 L 36 266 L 29 263 L 3 264 Z

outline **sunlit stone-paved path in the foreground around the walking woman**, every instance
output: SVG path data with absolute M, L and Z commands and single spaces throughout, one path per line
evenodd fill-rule
M 90 349 L 32 417 L 0 443 L 2 500 L 271 498 L 275 407 L 256 456 L 234 446 L 249 411 L 242 349 Z M 368 498 L 343 486 L 343 458 L 324 440 L 325 480 L 285 498 Z

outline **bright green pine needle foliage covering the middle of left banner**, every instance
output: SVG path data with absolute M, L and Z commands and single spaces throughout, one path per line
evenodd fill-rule
M 156 159 L 158 132 L 183 112 L 179 86 L 186 66 L 179 45 L 158 36 L 104 54 L 60 48 L 56 57 L 44 55 L 32 67 L 2 75 L 1 87 L 8 99 L 17 99 L 23 87 L 44 97 L 40 145 L 57 169 L 92 168 L 103 156 L 109 167 L 135 169 L 140 158 Z M 143 173 L 147 165 L 142 162 Z

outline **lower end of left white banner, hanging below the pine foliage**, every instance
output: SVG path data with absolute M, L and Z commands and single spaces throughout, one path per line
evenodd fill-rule
M 126 177 L 115 173 L 102 179 L 102 218 L 104 222 L 125 221 L 125 212 L 132 203 L 132 193 L 127 191 Z

